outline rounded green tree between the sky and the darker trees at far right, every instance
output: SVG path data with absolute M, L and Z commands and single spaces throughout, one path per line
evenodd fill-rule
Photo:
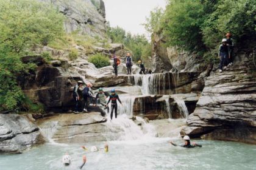
M 204 47 L 201 33 L 204 20 L 204 6 L 200 0 L 171 1 L 163 16 L 163 32 L 168 39 L 167 45 L 185 50 L 201 50 Z

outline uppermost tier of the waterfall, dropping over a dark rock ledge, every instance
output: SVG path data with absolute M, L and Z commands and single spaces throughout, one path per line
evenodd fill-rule
M 169 73 L 133 75 L 128 78 L 128 81 L 130 84 L 140 86 L 143 95 L 164 95 L 165 90 L 171 89 Z

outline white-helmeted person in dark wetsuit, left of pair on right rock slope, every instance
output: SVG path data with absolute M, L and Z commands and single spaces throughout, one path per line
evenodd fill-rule
M 229 62 L 229 49 L 227 46 L 227 39 L 222 39 L 222 44 L 219 46 L 219 72 L 221 73 L 223 71 L 223 66 L 224 70 L 227 69 L 227 64 Z

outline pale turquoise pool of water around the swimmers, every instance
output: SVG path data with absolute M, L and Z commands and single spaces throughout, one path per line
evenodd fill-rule
M 85 145 L 103 147 L 105 143 L 44 144 L 23 154 L 0 155 L 1 170 L 79 169 L 82 155 L 87 155 L 83 169 L 256 169 L 256 146 L 225 141 L 197 140 L 202 148 L 171 146 L 171 138 L 135 141 L 109 141 L 109 152 L 85 152 Z M 174 139 L 177 144 L 182 140 Z M 71 155 L 70 166 L 62 165 L 62 155 Z

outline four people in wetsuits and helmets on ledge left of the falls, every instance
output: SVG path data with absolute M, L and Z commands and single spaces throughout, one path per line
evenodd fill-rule
M 119 99 L 118 94 L 116 94 L 115 89 L 111 90 L 111 94 L 108 94 L 108 92 L 104 92 L 104 90 L 100 87 L 98 89 L 98 93 L 96 94 L 96 97 L 94 97 L 93 90 L 91 90 L 92 84 L 87 83 L 85 84 L 85 87 L 83 86 L 84 82 L 77 81 L 76 86 L 74 86 L 73 89 L 73 98 L 75 101 L 75 107 L 74 107 L 74 113 L 78 114 L 80 112 L 88 112 L 88 101 L 90 103 L 90 106 L 99 106 L 102 110 L 107 110 L 107 112 L 110 111 L 108 104 L 111 101 L 111 114 L 110 118 L 112 120 L 113 118 L 113 112 L 115 111 L 115 118 L 117 118 L 117 110 L 118 110 L 118 103 L 122 105 L 121 100 Z M 108 101 L 107 98 L 109 97 Z M 82 102 L 82 99 L 84 99 L 84 102 Z M 79 106 L 84 106 L 82 109 L 80 109 Z

